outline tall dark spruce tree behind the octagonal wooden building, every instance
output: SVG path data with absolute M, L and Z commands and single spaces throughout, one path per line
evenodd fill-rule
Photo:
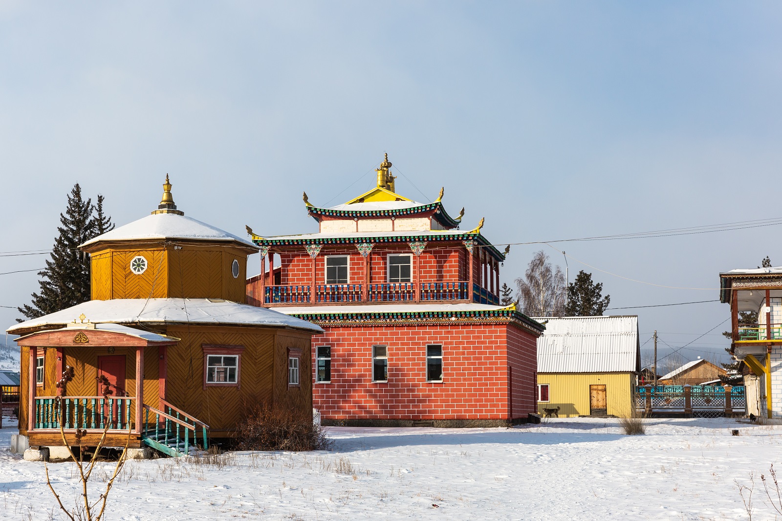
M 99 218 L 105 227 L 111 219 L 102 214 L 102 197 L 99 200 Z M 90 300 L 90 259 L 78 246 L 97 235 L 99 225 L 92 215 L 94 209 L 92 199 L 85 201 L 81 186 L 76 183 L 68 196 L 65 214 L 59 214 L 61 226 L 57 227 L 59 236 L 52 247 L 52 259 L 38 271 L 41 293 L 32 294 L 32 305 L 17 308 L 25 317 L 37 318 Z

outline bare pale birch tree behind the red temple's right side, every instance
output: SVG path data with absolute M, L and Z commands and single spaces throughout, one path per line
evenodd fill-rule
M 561 268 L 554 269 L 543 250 L 527 265 L 524 278 L 516 279 L 522 311 L 533 317 L 561 317 L 565 314 L 567 285 Z

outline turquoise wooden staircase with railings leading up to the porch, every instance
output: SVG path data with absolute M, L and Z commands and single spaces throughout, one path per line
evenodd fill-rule
M 209 426 L 206 423 L 188 415 L 160 400 L 163 411 L 143 405 L 144 428 L 142 429 L 142 443 L 152 447 L 172 458 L 187 456 L 192 451 L 206 451 L 209 449 Z M 201 443 L 198 434 L 201 432 Z

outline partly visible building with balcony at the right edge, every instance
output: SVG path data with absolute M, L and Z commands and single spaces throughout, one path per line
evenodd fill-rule
M 782 267 L 719 274 L 720 301 L 730 304 L 730 353 L 744 361 L 747 403 L 782 418 Z

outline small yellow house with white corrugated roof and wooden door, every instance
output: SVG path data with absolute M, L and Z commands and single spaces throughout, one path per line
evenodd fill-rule
M 548 321 L 537 340 L 540 414 L 629 415 L 640 373 L 638 317 L 536 320 Z

